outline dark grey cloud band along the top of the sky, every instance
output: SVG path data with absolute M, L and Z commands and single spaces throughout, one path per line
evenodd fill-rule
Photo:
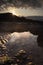
M 15 6 L 15 7 L 32 7 L 40 8 L 42 7 L 41 0 L 0 0 L 0 6 L 5 4 L 5 6 Z

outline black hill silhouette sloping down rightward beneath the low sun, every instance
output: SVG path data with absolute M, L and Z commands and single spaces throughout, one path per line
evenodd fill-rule
M 12 15 L 12 13 L 0 14 L 0 22 L 23 22 L 23 20 L 26 20 L 25 17 L 18 17 L 16 15 Z

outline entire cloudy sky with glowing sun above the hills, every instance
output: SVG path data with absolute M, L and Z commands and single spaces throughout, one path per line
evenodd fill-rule
M 0 0 L 0 13 L 17 16 L 43 16 L 43 0 Z

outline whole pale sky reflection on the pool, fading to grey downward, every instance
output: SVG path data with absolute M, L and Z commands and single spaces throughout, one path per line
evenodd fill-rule
M 31 50 L 37 48 L 37 35 L 30 32 L 13 32 L 10 34 L 9 41 L 5 44 L 9 56 L 14 56 L 19 50 Z

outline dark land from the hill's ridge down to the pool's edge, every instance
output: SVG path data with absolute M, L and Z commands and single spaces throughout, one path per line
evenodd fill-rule
M 11 13 L 0 14 L 0 32 L 30 31 L 38 36 L 38 45 L 43 46 L 43 21 L 17 17 Z

